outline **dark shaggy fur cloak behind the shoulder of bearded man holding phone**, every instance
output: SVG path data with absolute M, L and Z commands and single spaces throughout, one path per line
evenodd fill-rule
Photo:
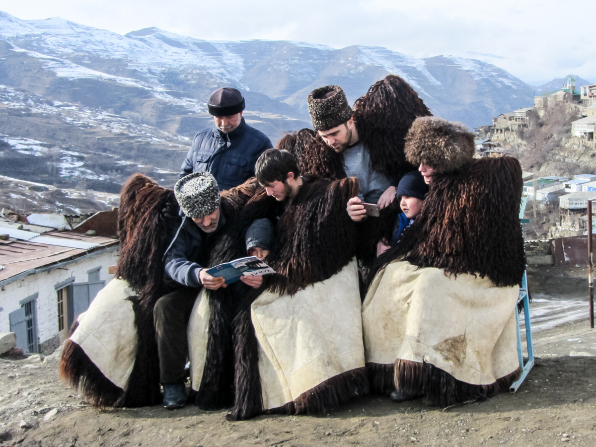
M 375 82 L 352 109 L 358 136 L 370 153 L 371 169 L 399 179 L 418 167 L 406 161 L 405 138 L 417 117 L 432 113 L 405 80 L 389 75 Z

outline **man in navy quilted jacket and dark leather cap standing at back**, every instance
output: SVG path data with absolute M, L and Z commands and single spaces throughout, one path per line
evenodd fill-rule
M 244 98 L 237 89 L 218 88 L 207 108 L 215 119 L 215 128 L 194 136 L 180 178 L 193 172 L 210 172 L 220 191 L 229 190 L 254 177 L 254 163 L 273 145 L 263 132 L 244 121 Z

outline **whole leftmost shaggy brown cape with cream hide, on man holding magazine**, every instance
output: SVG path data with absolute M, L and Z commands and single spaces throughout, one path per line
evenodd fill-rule
M 229 221 L 238 217 L 255 190 L 256 182 L 249 180 L 222 193 L 221 208 Z M 60 362 L 60 377 L 79 387 L 91 405 L 162 402 L 153 308 L 160 297 L 181 287 L 164 273 L 163 262 L 180 222 L 172 190 L 141 174 L 123 185 L 117 279 L 95 297 L 80 317 L 80 327 L 75 322 Z M 114 308 L 120 310 L 114 312 Z M 111 336 L 110 331 L 119 336 Z M 106 355 L 111 357 L 103 358 Z

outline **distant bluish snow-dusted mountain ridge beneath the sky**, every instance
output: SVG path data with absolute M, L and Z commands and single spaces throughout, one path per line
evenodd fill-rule
M 390 73 L 410 83 L 435 114 L 471 128 L 489 122 L 502 111 L 532 103 L 531 86 L 492 64 L 443 55 L 421 59 L 378 46 L 336 49 L 308 42 L 207 41 L 158 27 L 122 36 L 62 18 L 21 20 L 1 12 L 0 38 L 19 49 L 68 60 L 77 66 L 68 68 L 58 61 L 53 67 L 51 63 L 42 64 L 57 77 L 122 82 L 106 79 L 119 76 L 139 83 L 136 88 L 141 94 L 153 88 L 152 93 L 160 90 L 186 95 L 187 100 L 178 98 L 178 105 L 197 113 L 202 120 L 208 118 L 200 115 L 206 112 L 210 91 L 229 85 L 272 100 L 265 104 L 265 98 L 257 98 L 256 107 L 247 101 L 249 110 L 266 113 L 276 104 L 275 113 L 304 122 L 300 123 L 304 127 L 309 125 L 306 97 L 313 88 L 336 83 L 353 102 L 365 94 L 368 86 Z M 86 72 L 85 68 L 105 76 Z M 162 99 L 176 103 L 171 96 L 163 94 Z M 193 107 L 190 98 L 195 100 Z M 272 139 L 279 138 L 280 131 L 296 130 L 296 126 L 284 127 L 287 123 L 265 124 L 278 129 L 278 135 L 266 132 Z M 259 123 L 255 126 L 259 128 Z

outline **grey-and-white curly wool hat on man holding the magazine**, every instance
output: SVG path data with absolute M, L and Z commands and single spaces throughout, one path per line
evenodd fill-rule
M 219 208 L 218 182 L 209 172 L 193 172 L 179 179 L 174 187 L 182 212 L 191 219 L 202 218 Z

